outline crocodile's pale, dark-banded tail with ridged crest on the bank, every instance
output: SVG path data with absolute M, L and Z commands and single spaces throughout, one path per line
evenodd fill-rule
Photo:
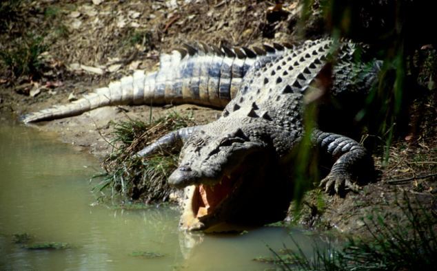
M 28 113 L 21 120 L 29 123 L 67 118 L 106 105 L 193 103 L 223 108 L 240 89 L 247 70 L 260 60 L 287 51 L 287 46 L 272 48 L 185 44 L 171 54 L 161 54 L 157 72 L 136 71 L 79 100 Z

